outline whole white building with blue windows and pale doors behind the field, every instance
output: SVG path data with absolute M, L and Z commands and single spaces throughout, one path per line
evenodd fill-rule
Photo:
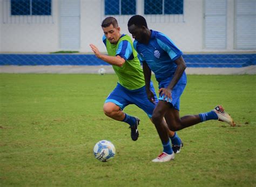
M 41 0 L 47 5 L 25 1 L 28 4 L 0 0 L 2 53 L 87 53 L 91 43 L 105 52 L 100 27 L 110 16 L 105 13 L 118 13 L 112 16 L 122 33 L 129 34 L 132 15 L 122 15 L 127 10 L 145 16 L 150 29 L 168 35 L 183 52 L 256 51 L 256 0 Z M 105 3 L 113 7 L 106 9 Z M 173 3 L 178 3 L 179 12 L 170 11 Z

